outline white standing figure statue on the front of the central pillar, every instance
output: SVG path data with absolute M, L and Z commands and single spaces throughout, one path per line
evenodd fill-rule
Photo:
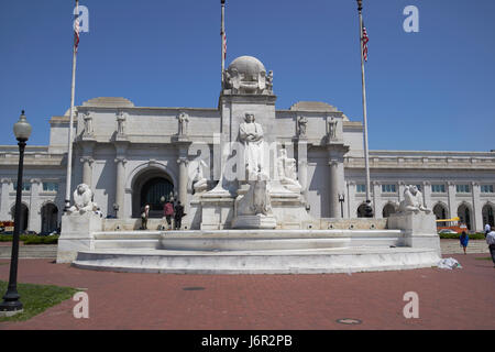
M 239 139 L 244 144 L 244 163 L 248 172 L 248 179 L 257 179 L 257 175 L 263 173 L 263 128 L 254 122 L 254 114 L 246 113 L 245 122 L 239 128 Z

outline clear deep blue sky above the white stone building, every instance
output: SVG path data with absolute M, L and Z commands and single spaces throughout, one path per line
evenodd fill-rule
M 125 97 L 143 107 L 216 108 L 219 0 L 81 0 L 76 103 Z M 406 33 L 406 6 L 419 33 Z M 0 2 L 0 144 L 26 110 L 31 145 L 70 103 L 70 0 Z M 495 1 L 364 0 L 372 150 L 495 148 Z M 362 121 L 354 0 L 227 0 L 228 64 L 241 55 L 274 72 L 277 109 L 329 102 Z

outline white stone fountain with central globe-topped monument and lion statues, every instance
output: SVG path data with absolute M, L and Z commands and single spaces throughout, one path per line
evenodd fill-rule
M 273 74 L 256 58 L 235 59 L 223 80 L 218 183 L 208 189 L 205 165 L 190 163 L 189 228 L 165 231 L 158 220 L 154 230 L 139 231 L 136 219 L 102 219 L 91 189 L 79 185 L 74 207 L 63 217 L 57 263 L 176 274 L 352 273 L 438 264 L 435 216 L 415 186 L 405 187 L 398 212 L 387 219 L 311 217 L 301 173 L 305 121 L 298 121 L 296 141 L 280 143 Z M 345 145 L 331 139 L 332 127 L 329 150 L 343 155 Z M 298 160 L 290 155 L 295 147 Z

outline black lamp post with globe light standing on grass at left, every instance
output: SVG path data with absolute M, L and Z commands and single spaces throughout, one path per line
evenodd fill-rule
M 15 195 L 15 213 L 14 213 L 14 232 L 12 239 L 12 256 L 10 261 L 9 287 L 3 296 L 3 302 L 0 304 L 0 315 L 13 316 L 23 311 L 18 293 L 18 262 L 19 262 L 19 233 L 21 230 L 21 201 L 22 201 L 22 173 L 24 168 L 24 150 L 25 144 L 31 135 L 31 124 L 28 122 L 22 111 L 21 118 L 14 124 L 13 131 L 15 139 L 19 141 L 19 172 L 18 172 L 18 189 Z

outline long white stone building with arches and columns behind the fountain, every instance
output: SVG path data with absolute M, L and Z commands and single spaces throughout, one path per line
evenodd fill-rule
M 180 199 L 189 213 L 198 193 L 190 172 L 198 150 L 211 151 L 204 164 L 208 176 L 204 190 L 208 191 L 218 183 L 212 161 L 216 135 L 227 133 L 222 121 L 240 119 L 249 110 L 273 141 L 307 145 L 305 163 L 297 147 L 293 155 L 311 217 L 364 217 L 362 122 L 352 121 L 327 102 L 299 101 L 289 109 L 276 109 L 270 74 L 254 57 L 235 59 L 229 72 L 244 80 L 263 80 L 267 88 L 253 94 L 257 95 L 255 105 L 230 87 L 222 90 L 218 108 L 135 107 L 124 98 L 96 98 L 77 107 L 73 190 L 79 184 L 90 186 L 95 201 L 109 218 L 140 218 L 146 204 L 152 217 L 162 218 L 163 201 L 170 197 Z M 52 117 L 50 144 L 26 147 L 23 230 L 51 232 L 61 224 L 69 124 L 68 112 Z M 18 162 L 16 145 L 0 146 L 0 221 L 13 217 Z M 437 219 L 459 217 L 471 231 L 482 231 L 485 223 L 494 226 L 495 151 L 372 150 L 370 168 L 376 218 L 394 213 L 404 187 L 417 185 Z M 183 227 L 193 228 L 194 221 L 193 216 L 186 217 Z

